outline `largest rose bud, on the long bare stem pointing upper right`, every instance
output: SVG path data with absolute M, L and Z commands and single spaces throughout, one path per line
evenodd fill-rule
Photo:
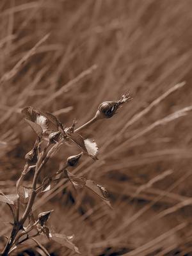
M 125 93 L 124 95 L 122 95 L 120 100 L 102 102 L 99 105 L 99 108 L 95 117 L 97 119 L 111 118 L 113 115 L 115 115 L 117 109 L 122 104 L 124 104 L 125 102 L 128 102 L 131 99 L 132 98 L 129 96 L 129 93 Z

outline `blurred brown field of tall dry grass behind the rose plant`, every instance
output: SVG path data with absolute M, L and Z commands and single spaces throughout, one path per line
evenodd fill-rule
M 81 125 L 100 102 L 127 90 L 134 98 L 83 132 L 99 161 L 83 157 L 74 170 L 105 186 L 114 209 L 63 182 L 36 201 L 36 212 L 54 209 L 52 228 L 75 234 L 82 255 L 192 255 L 191 8 L 191 0 L 0 1 L 4 193 L 15 192 L 35 141 L 20 108 Z M 62 148 L 45 172 L 75 152 Z M 0 208 L 2 247 L 10 216 Z M 75 255 L 42 241 L 51 255 Z M 44 255 L 25 245 L 17 255 Z

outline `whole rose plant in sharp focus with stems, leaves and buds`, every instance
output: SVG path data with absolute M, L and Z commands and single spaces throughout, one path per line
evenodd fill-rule
M 51 190 L 59 180 L 67 179 L 76 189 L 90 189 L 111 207 L 108 191 L 105 188 L 93 180 L 77 177 L 69 169 L 74 168 L 79 163 L 83 154 L 97 160 L 97 143 L 88 138 L 84 139 L 79 132 L 97 120 L 111 118 L 116 114 L 116 110 L 129 100 L 131 100 L 131 97 L 129 97 L 129 93 L 126 93 L 122 95 L 120 100 L 102 102 L 92 120 L 77 129 L 76 122 L 73 122 L 71 127 L 65 127 L 51 113 L 44 113 L 32 107 L 22 109 L 24 119 L 36 133 L 37 138 L 33 148 L 25 156 L 26 164 L 16 184 L 17 193 L 15 195 L 4 195 L 1 192 L 0 195 L 0 201 L 8 205 L 13 216 L 12 232 L 10 237 L 7 238 L 7 243 L 1 255 L 9 255 L 19 244 L 28 239 L 35 241 L 42 248 L 45 255 L 49 255 L 44 246 L 35 239 L 41 234 L 44 234 L 47 239 L 52 239 L 74 250 L 74 252 L 80 253 L 77 246 L 72 243 L 72 236 L 57 234 L 50 229 L 49 217 L 53 210 L 40 212 L 36 216 L 36 212 L 33 212 L 33 205 L 36 196 L 41 196 Z M 61 145 L 67 145 L 68 141 L 75 143 L 81 149 L 80 154 L 68 157 L 64 163 L 61 163 L 62 167 L 57 172 L 51 176 L 45 175 L 42 182 L 40 182 L 40 174 L 47 161 L 58 152 Z M 28 172 L 33 173 L 33 181 L 32 185 L 29 184 L 27 187 L 24 186 L 24 179 Z

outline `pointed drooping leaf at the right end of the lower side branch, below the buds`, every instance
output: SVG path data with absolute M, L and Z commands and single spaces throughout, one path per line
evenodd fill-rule
M 111 207 L 111 204 L 109 202 L 109 193 L 106 190 L 106 188 L 96 184 L 93 180 L 86 180 L 85 184 L 86 188 L 92 190 L 97 196 L 102 198 L 106 204 L 108 204 Z

